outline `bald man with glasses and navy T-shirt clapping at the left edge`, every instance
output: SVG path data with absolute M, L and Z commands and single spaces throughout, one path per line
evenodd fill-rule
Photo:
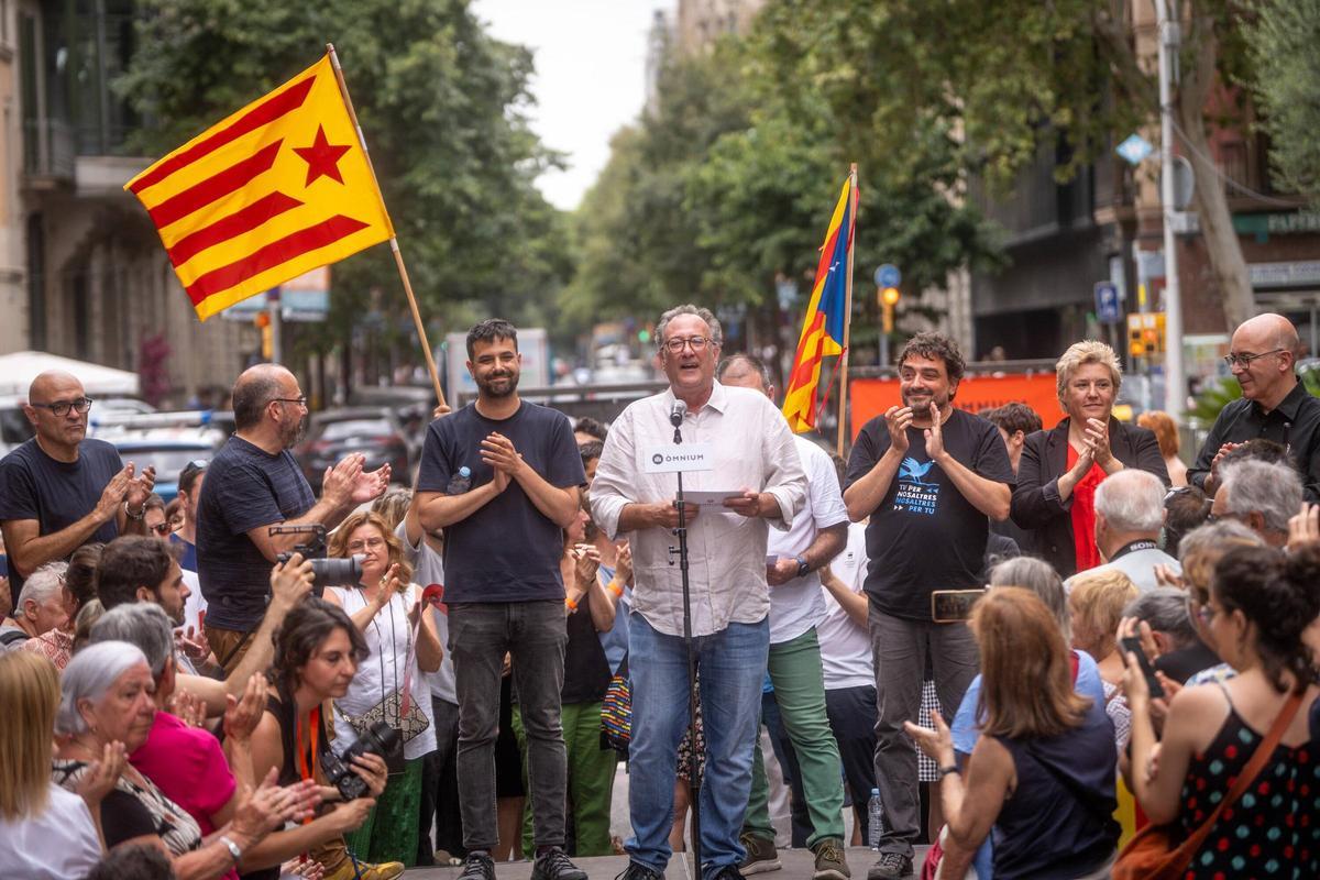
M 91 398 L 77 376 L 44 372 L 22 408 L 36 437 L 0 460 L 0 529 L 9 551 L 9 587 L 46 562 L 67 559 L 91 541 L 143 534 L 156 472 L 136 474 L 106 441 L 87 438 Z

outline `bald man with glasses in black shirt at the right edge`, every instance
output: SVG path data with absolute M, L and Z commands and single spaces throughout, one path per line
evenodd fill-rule
M 1302 474 L 1307 501 L 1320 501 L 1320 400 L 1307 393 L 1294 371 L 1302 342 L 1283 315 L 1263 314 L 1237 329 L 1224 358 L 1242 387 L 1242 400 L 1220 410 L 1187 482 L 1213 496 L 1220 462 L 1246 441 L 1282 443 Z

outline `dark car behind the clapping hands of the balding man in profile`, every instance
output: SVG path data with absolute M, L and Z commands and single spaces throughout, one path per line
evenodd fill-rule
M 412 466 L 420 447 L 411 441 L 396 412 L 389 406 L 355 406 L 315 413 L 306 439 L 293 454 L 313 491 L 321 492 L 325 471 L 350 453 L 367 456 L 363 467 L 374 471 L 389 464 L 391 479 L 412 482 Z

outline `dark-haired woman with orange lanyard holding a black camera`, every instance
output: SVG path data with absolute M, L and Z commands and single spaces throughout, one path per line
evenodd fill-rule
M 329 811 L 294 829 L 304 852 L 325 868 L 325 880 L 391 880 L 404 865 L 363 864 L 351 859 L 343 835 L 360 827 L 385 790 L 385 761 L 391 745 L 376 731 L 355 740 L 335 740 L 330 751 L 331 719 L 322 710 L 342 699 L 370 656 L 367 641 L 342 608 L 308 596 L 284 619 L 275 635 L 275 661 L 267 673 L 265 712 L 252 732 L 252 770 L 264 778 L 275 768 L 280 785 L 312 780 L 322 785 Z M 334 802 L 339 803 L 334 803 Z M 244 880 L 273 880 L 279 873 L 246 875 Z

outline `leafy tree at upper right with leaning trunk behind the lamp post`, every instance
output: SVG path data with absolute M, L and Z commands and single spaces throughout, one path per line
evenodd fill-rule
M 1140 0 L 1150 3 L 1150 0 Z M 1138 58 L 1118 0 L 772 0 L 758 30 L 787 100 L 821 95 L 849 144 L 909 150 L 913 132 L 957 133 L 960 165 L 1003 193 L 1043 144 L 1064 145 L 1063 182 L 1158 119 L 1154 58 Z M 1206 107 L 1250 78 L 1239 4 L 1176 0 L 1183 26 L 1176 113 L 1199 186 L 1196 210 L 1230 326 L 1251 288 L 1218 172 Z M 1312 53 L 1313 54 L 1313 53 Z M 797 96 L 800 95 L 800 96 Z

